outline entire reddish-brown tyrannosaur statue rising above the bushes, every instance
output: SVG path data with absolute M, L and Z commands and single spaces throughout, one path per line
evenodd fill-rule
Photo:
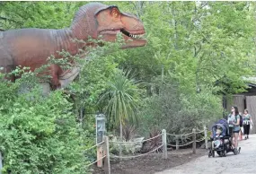
M 57 51 L 64 49 L 71 55 L 77 54 L 78 49 L 84 46 L 77 47 L 72 39 L 98 39 L 102 36 L 103 40 L 115 41 L 119 32 L 127 40 L 122 48 L 146 45 L 146 39 L 134 37 L 145 33 L 143 23 L 136 16 L 120 13 L 119 8 L 114 5 L 85 4 L 75 14 L 70 28 L 0 31 L 0 67 L 4 67 L 2 73 L 9 73 L 18 65 L 30 67 L 34 71 L 41 65 L 46 65 L 49 56 L 60 58 Z M 58 76 L 64 72 L 58 65 L 50 65 L 49 70 L 51 85 L 55 89 L 60 85 Z M 11 80 L 14 81 L 14 77 Z

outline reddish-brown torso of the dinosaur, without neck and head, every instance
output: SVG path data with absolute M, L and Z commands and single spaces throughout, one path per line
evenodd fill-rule
M 70 41 L 72 34 L 68 30 L 21 29 L 5 31 L 2 35 L 0 64 L 5 67 L 6 73 L 17 65 L 30 67 L 34 71 L 46 65 L 49 56 L 60 57 L 57 51 L 62 49 L 73 55 L 77 53 L 75 43 Z M 57 79 L 63 71 L 58 65 L 50 65 L 49 68 L 52 84 L 58 86 Z

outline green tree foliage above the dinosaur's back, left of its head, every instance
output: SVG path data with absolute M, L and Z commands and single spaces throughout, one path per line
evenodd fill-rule
M 69 27 L 84 2 L 2 2 L 0 29 Z

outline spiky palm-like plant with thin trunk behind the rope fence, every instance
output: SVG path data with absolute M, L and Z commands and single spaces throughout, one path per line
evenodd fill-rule
M 122 126 L 127 122 L 137 122 L 138 82 L 133 78 L 129 79 L 129 74 L 130 71 L 123 72 L 117 69 L 109 81 L 108 90 L 103 95 L 103 97 L 109 97 L 106 109 L 112 123 L 119 126 L 120 140 L 122 140 Z

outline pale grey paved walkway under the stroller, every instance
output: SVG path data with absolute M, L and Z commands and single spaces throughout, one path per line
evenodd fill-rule
M 228 152 L 226 157 L 215 158 L 205 156 L 199 157 L 194 161 L 172 168 L 163 170 L 155 174 L 246 174 L 256 173 L 256 135 L 250 135 L 250 139 L 239 141 L 241 153 L 234 155 Z

